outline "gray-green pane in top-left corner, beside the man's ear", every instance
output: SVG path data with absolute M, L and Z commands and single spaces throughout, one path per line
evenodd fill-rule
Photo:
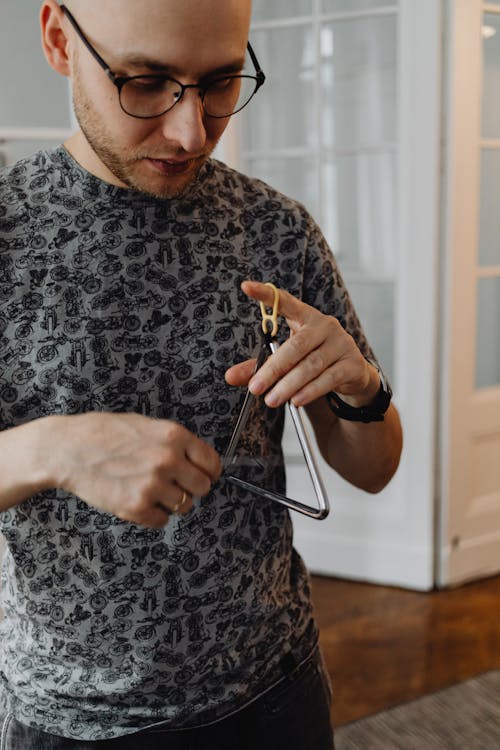
M 70 124 L 68 83 L 43 56 L 35 3 L 1 0 L 0 93 L 0 127 Z

